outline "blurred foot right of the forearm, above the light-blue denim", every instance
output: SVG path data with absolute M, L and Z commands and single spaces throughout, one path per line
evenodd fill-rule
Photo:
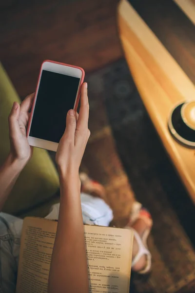
M 79 173 L 81 192 L 95 197 L 105 199 L 105 188 L 98 182 L 92 180 L 86 173 Z

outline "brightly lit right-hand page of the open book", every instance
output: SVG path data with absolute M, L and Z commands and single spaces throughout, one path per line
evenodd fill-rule
M 85 226 L 90 293 L 129 293 L 133 232 Z

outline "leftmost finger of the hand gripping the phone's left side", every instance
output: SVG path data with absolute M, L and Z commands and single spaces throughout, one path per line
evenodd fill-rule
M 10 137 L 14 137 L 20 133 L 19 116 L 20 105 L 17 102 L 14 102 L 8 117 Z

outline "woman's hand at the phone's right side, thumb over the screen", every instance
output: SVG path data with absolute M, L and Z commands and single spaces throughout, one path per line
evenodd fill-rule
M 74 110 L 69 110 L 66 117 L 66 129 L 56 154 L 59 173 L 64 180 L 78 176 L 78 169 L 90 136 L 88 119 L 87 83 L 84 83 L 81 87 L 79 115 Z

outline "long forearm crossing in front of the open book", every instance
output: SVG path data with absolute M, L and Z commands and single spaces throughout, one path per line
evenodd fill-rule
M 60 178 L 58 229 L 52 254 L 49 293 L 88 293 L 88 269 L 78 177 Z

